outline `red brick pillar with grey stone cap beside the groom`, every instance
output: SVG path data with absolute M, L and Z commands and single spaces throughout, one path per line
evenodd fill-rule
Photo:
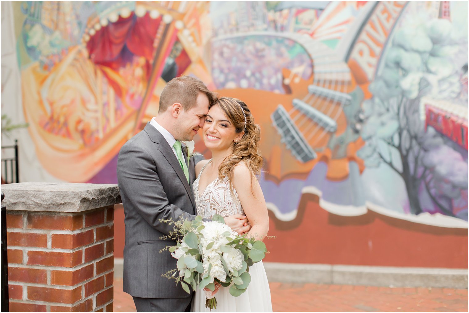
M 113 311 L 116 185 L 3 185 L 10 311 Z

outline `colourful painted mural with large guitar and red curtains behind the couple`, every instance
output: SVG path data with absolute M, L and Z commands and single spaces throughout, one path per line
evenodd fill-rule
M 53 177 L 116 183 L 119 149 L 166 82 L 194 75 L 252 108 L 276 229 L 301 228 L 313 201 L 329 224 L 377 215 L 456 230 L 467 261 L 467 2 L 12 7 L 30 153 Z M 210 157 L 199 138 L 196 150 Z

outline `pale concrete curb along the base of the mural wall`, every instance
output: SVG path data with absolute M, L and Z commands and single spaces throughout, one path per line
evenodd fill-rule
M 115 277 L 122 277 L 123 264 L 123 259 L 114 259 Z M 264 262 L 264 267 L 269 281 L 280 283 L 468 289 L 467 269 L 277 262 Z

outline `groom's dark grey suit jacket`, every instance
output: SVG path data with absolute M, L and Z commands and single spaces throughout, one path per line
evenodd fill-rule
M 183 153 L 184 154 L 184 153 Z M 187 161 L 187 159 L 186 159 Z M 124 291 L 140 298 L 187 298 L 181 284 L 161 275 L 176 268 L 176 259 L 162 240 L 173 226 L 159 219 L 195 218 L 192 192 L 194 161 L 189 162 L 189 183 L 172 148 L 148 123 L 126 142 L 117 160 L 117 179 L 125 214 Z

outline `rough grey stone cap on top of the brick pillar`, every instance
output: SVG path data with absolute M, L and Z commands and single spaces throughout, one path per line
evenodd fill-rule
M 1 185 L 7 210 L 83 212 L 121 203 L 113 184 L 25 182 Z

